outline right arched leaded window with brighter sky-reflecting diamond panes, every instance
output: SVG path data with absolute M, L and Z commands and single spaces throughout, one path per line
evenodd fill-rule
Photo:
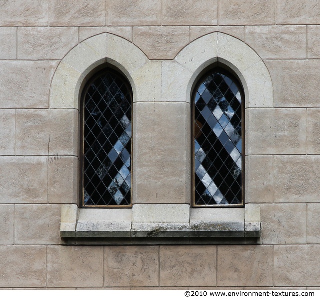
M 193 205 L 243 205 L 242 87 L 214 68 L 197 83 L 193 103 Z

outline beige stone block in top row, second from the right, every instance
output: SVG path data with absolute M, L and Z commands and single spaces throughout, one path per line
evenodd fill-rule
M 273 25 L 274 0 L 219 1 L 219 25 Z

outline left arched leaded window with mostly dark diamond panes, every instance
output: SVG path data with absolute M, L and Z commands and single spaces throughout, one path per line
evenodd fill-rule
M 131 206 L 131 87 L 104 69 L 81 100 L 82 207 Z

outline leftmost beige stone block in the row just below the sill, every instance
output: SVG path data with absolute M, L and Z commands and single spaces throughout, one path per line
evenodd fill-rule
M 0 246 L 0 287 L 45 287 L 46 246 Z

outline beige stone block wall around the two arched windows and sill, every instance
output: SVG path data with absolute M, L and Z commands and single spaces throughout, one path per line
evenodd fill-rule
M 1 288 L 320 288 L 320 0 L 0 0 L 0 7 Z M 90 246 L 61 239 L 61 207 L 79 200 L 79 110 L 52 103 L 50 92 L 58 88 L 52 79 L 73 48 L 105 32 L 133 43 L 155 64 L 173 63 L 213 32 L 233 36 L 262 59 L 273 102 L 247 103 L 245 128 L 245 194 L 247 204 L 260 208 L 257 242 Z M 259 83 L 257 89 L 265 88 Z M 162 115 L 187 119 L 189 99 L 184 94 L 168 104 L 161 92 L 136 111 L 154 112 L 154 123 L 168 130 L 179 120 Z M 135 121 L 142 132 L 150 119 Z M 155 131 L 161 135 L 161 128 Z M 177 132 L 191 143 L 189 128 Z M 171 149 L 172 156 L 180 147 Z M 152 160 L 152 152 L 140 152 Z M 138 162 L 136 171 L 149 167 Z M 185 192 L 172 198 L 172 179 L 156 181 L 161 167 L 149 170 L 151 184 L 132 190 L 136 203 L 147 187 L 162 188 L 161 203 L 187 203 L 190 186 L 183 183 L 190 173 L 183 180 L 170 165 Z M 148 203 L 147 194 L 143 200 Z

